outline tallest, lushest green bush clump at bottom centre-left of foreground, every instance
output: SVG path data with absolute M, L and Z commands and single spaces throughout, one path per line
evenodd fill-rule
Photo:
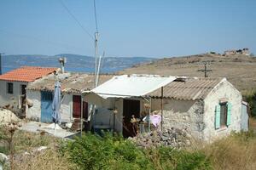
M 79 169 L 152 169 L 143 150 L 129 140 L 106 133 L 103 137 L 86 133 L 81 138 L 67 142 L 62 152 Z M 63 153 L 64 153 L 63 152 Z

